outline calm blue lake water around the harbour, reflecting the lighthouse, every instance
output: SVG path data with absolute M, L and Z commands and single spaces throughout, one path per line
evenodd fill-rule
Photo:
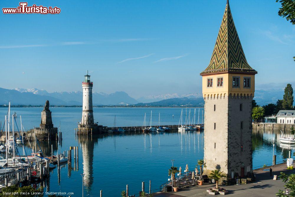
M 11 108 L 11 113 L 17 113 L 19 125 L 19 115 L 22 115 L 23 126 L 29 130 L 39 126 L 42 110 L 42 108 Z M 60 182 L 58 182 L 57 169 L 54 169 L 50 175 L 50 192 L 73 192 L 74 195 L 71 196 L 81 196 L 81 173 L 85 174 L 84 195 L 87 196 L 99 196 L 99 190 L 103 190 L 103 196 L 119 196 L 120 192 L 126 189 L 126 184 L 129 185 L 129 195 L 135 194 L 141 190 L 142 181 L 145 181 L 145 190 L 148 191 L 149 180 L 152 183 L 152 190 L 157 190 L 169 178 L 171 159 L 175 160 L 174 166 L 181 166 L 184 169 L 188 164 L 189 170 L 193 170 L 197 160 L 204 157 L 203 132 L 152 134 L 125 132 L 103 134 L 92 138 L 81 136 L 75 139 L 74 128 L 81 120 L 82 108 L 50 108 L 50 110 L 54 126 L 58 127 L 59 121 L 61 123 L 63 132 L 61 151 L 68 150 L 70 146 L 79 147 L 78 167 L 74 165 L 72 159 L 72 170 L 69 174 L 68 165 L 62 165 Z M 113 126 L 116 115 L 116 126 L 142 126 L 144 113 L 147 114 L 148 124 L 151 110 L 153 125 L 158 124 L 159 112 L 161 125 L 179 123 L 181 108 L 94 108 L 94 118 L 100 125 Z M 202 110 L 201 108 L 199 123 L 202 121 Z M 193 112 L 194 108 L 191 108 L 191 121 Z M 2 123 L 6 113 L 7 108 L 0 108 Z M 185 110 L 183 113 L 185 114 Z M 187 116 L 188 114 L 189 108 Z M 198 109 L 196 109 L 196 123 L 198 123 Z M 279 135 L 280 131 L 253 131 L 253 167 L 271 164 L 273 141 L 277 162 L 287 158 L 289 150 L 294 152 L 293 147 L 280 145 Z M 47 155 L 50 155 L 51 143 L 56 154 L 55 141 L 41 143 L 42 150 Z M 27 145 L 27 151 L 28 147 Z

